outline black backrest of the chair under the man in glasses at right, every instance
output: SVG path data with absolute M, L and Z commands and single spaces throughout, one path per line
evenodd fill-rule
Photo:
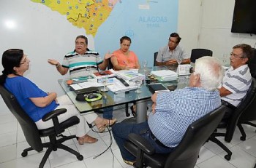
M 240 119 L 242 113 L 244 113 L 247 110 L 249 111 L 249 109 L 252 109 L 252 107 L 255 106 L 255 103 L 254 103 L 255 94 L 256 94 L 256 79 L 252 78 L 252 84 L 249 87 L 244 99 L 238 105 L 238 108 L 233 112 L 233 114 L 231 115 L 228 121 L 225 141 L 230 143 L 230 141 L 232 140 L 233 134 L 236 129 L 236 125 L 238 124 L 238 120 Z

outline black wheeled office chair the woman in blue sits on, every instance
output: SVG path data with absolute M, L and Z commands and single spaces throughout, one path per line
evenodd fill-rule
M 83 156 L 80 155 L 80 153 L 62 144 L 66 140 L 75 138 L 75 135 L 64 136 L 64 135 L 61 135 L 61 133 L 64 132 L 64 129 L 67 129 L 68 127 L 72 127 L 73 125 L 79 123 L 79 119 L 77 116 L 72 116 L 66 121 L 59 123 L 57 116 L 59 116 L 61 113 L 65 113 L 67 110 L 58 109 L 46 114 L 42 118 L 43 121 L 48 121 L 52 119 L 54 127 L 50 127 L 48 129 L 37 129 L 37 125 L 26 114 L 26 112 L 23 111 L 23 108 L 20 107 L 15 96 L 12 95 L 7 89 L 5 89 L 1 85 L 0 85 L 0 94 L 1 94 L 1 97 L 3 97 L 4 103 L 6 103 L 7 107 L 10 109 L 12 114 L 16 117 L 16 119 L 20 123 L 20 127 L 23 130 L 23 134 L 26 137 L 26 141 L 31 146 L 29 148 L 24 149 L 23 153 L 21 153 L 21 156 L 23 157 L 27 156 L 28 151 L 31 151 L 31 150 L 40 152 L 43 150 L 43 148 L 48 148 L 47 151 L 45 152 L 45 155 L 42 158 L 41 163 L 39 164 L 40 168 L 44 167 L 45 161 L 48 159 L 51 151 L 57 151 L 57 148 L 61 148 L 65 151 L 68 151 L 74 154 L 75 156 L 77 156 L 77 159 L 80 161 L 83 160 Z M 42 143 L 41 137 L 49 137 L 50 142 Z M 62 137 L 62 138 L 57 140 L 56 137 Z

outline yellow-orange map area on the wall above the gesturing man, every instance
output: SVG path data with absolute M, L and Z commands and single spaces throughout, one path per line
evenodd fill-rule
M 67 20 L 78 28 L 84 28 L 86 34 L 95 36 L 102 23 L 110 15 L 120 0 L 31 0 L 44 4 L 53 11 L 66 15 Z

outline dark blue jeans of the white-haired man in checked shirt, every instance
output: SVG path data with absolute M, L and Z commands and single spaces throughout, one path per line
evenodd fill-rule
M 135 133 L 145 137 L 148 142 L 151 143 L 151 145 L 155 148 L 156 153 L 170 153 L 173 151 L 174 148 L 164 148 L 161 145 L 158 145 L 155 140 L 153 140 L 152 137 L 148 134 L 148 130 L 149 127 L 147 121 L 140 124 L 117 123 L 113 125 L 113 137 L 116 140 L 116 143 L 121 152 L 121 156 L 124 160 L 135 161 L 135 156 L 133 156 L 132 153 L 129 153 L 129 151 L 124 148 L 124 143 L 126 140 L 128 140 L 129 133 Z

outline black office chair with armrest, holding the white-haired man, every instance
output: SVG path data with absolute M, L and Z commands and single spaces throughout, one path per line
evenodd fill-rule
M 129 141 L 124 144 L 124 147 L 136 156 L 134 167 L 195 167 L 201 146 L 214 132 L 224 113 L 225 108 L 221 106 L 192 122 L 181 143 L 171 153 L 155 153 L 154 148 L 145 138 L 135 134 L 129 134 Z

